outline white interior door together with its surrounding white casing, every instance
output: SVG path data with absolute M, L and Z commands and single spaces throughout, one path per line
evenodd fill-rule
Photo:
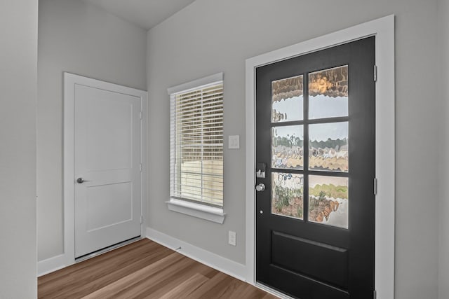
M 64 79 L 65 264 L 70 265 L 142 235 L 147 92 L 68 73 Z

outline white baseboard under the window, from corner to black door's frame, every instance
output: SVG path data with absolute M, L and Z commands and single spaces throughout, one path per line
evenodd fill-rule
M 199 263 L 213 267 L 214 269 L 235 277 L 236 279 L 246 281 L 246 266 L 236 263 L 234 260 L 223 258 L 215 253 L 206 251 L 197 246 L 181 241 L 180 239 L 170 237 L 169 235 L 152 228 L 147 228 L 147 238 L 173 249 L 188 258 L 192 258 Z

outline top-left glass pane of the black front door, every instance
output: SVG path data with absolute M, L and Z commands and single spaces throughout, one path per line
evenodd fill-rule
M 272 82 L 272 123 L 302 120 L 303 76 Z

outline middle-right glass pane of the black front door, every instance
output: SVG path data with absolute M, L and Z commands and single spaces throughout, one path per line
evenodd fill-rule
M 348 172 L 348 122 L 309 125 L 309 169 Z

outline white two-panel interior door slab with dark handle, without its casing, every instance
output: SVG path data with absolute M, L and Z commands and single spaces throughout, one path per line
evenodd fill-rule
M 142 99 L 74 85 L 75 258 L 141 235 Z

